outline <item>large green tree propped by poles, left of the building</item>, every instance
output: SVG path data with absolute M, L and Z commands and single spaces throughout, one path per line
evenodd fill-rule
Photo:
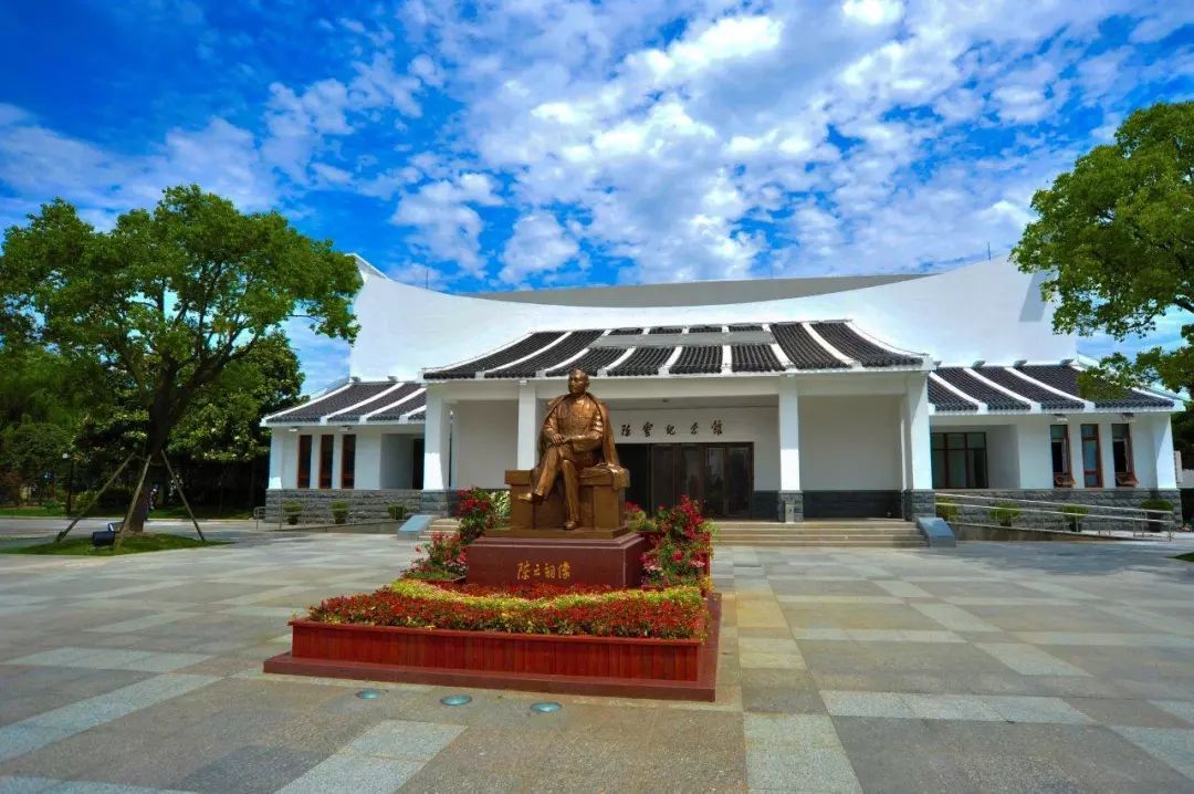
M 143 411 L 139 453 L 149 463 L 221 377 L 294 319 L 352 340 L 361 276 L 330 241 L 306 238 L 278 213 L 242 214 L 198 186 L 167 189 L 153 209 L 121 215 L 110 232 L 56 199 L 5 234 L 5 332 L 103 368 L 122 408 Z M 11 341 L 6 341 L 12 344 Z M 125 527 L 141 528 L 134 490 Z

